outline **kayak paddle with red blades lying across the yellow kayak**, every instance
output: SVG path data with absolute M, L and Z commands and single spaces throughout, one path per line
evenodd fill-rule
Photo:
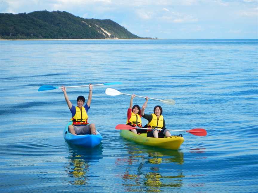
M 130 130 L 130 129 L 145 129 L 145 130 L 149 130 L 150 128 L 142 128 L 142 127 L 132 127 L 130 125 L 127 125 L 127 124 L 118 124 L 116 125 L 116 129 L 119 129 L 119 130 Z M 161 130 L 161 129 L 159 129 Z M 201 129 L 201 128 L 195 128 L 195 129 L 191 129 L 191 130 L 169 130 L 169 131 L 182 131 L 182 132 L 188 132 L 188 133 L 191 133 L 193 135 L 196 135 L 196 136 L 206 136 L 207 135 L 207 132 L 205 129 Z

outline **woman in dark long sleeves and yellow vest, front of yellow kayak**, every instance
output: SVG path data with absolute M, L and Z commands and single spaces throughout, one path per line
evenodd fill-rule
M 148 101 L 147 101 L 148 102 Z M 152 114 L 145 114 L 145 108 L 147 106 L 142 106 L 142 117 L 148 120 L 148 128 L 151 130 L 147 130 L 147 137 L 155 137 L 155 138 L 164 138 L 164 136 L 171 136 L 168 129 L 166 129 L 165 120 L 162 115 L 162 107 L 157 105 L 154 107 Z M 161 130 L 160 130 L 161 129 Z

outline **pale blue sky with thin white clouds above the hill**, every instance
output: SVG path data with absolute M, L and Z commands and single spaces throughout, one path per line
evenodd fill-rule
M 0 0 L 0 13 L 66 11 L 140 37 L 258 39 L 258 0 Z

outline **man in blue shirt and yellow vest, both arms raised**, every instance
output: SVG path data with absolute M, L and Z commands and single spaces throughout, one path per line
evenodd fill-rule
M 89 84 L 89 96 L 87 103 L 84 105 L 85 98 L 84 96 L 77 97 L 77 106 L 73 106 L 70 102 L 65 86 L 62 86 L 62 91 L 64 92 L 64 98 L 67 102 L 67 105 L 72 113 L 71 120 L 73 121 L 72 125 L 69 125 L 69 132 L 73 135 L 85 135 L 85 134 L 94 134 L 96 135 L 96 127 L 94 123 L 89 124 L 87 122 L 88 115 L 87 112 L 90 108 L 90 102 L 92 98 L 92 85 Z M 84 105 L 84 106 L 83 106 Z

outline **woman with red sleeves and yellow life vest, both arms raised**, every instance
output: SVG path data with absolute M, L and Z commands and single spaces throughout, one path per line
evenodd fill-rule
M 142 115 L 141 115 L 141 108 L 139 105 L 133 105 L 133 98 L 135 94 L 131 96 L 130 106 L 127 110 L 127 121 L 126 124 L 131 125 L 133 127 L 142 127 Z M 143 106 L 147 106 L 148 97 L 146 97 L 146 101 Z M 133 133 L 146 133 L 146 130 L 143 129 L 131 129 Z

